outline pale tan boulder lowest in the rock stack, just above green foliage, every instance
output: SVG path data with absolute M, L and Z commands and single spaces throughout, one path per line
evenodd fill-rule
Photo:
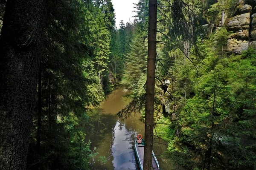
M 242 41 L 237 39 L 229 39 L 227 40 L 227 51 L 242 54 L 242 51 L 248 49 L 249 42 Z

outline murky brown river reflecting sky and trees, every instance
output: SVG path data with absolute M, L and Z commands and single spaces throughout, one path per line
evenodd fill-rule
M 98 153 L 90 161 L 92 170 L 136 170 L 138 169 L 134 153 L 134 139 L 137 134 L 144 136 L 144 123 L 140 120 L 140 114 L 133 114 L 130 118 L 121 121 L 117 116 L 124 108 L 129 99 L 125 97 L 126 93 L 122 87 L 114 90 L 102 102 L 101 106 L 94 109 L 90 115 L 90 126 L 87 127 L 87 139 L 91 143 L 91 149 L 96 148 Z M 157 142 L 163 144 L 154 144 L 154 153 L 161 170 L 174 169 L 172 164 L 163 159 L 160 155 L 167 148 L 164 141 Z

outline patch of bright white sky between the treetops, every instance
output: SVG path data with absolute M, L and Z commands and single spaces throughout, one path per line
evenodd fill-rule
M 138 3 L 139 0 L 111 0 L 113 3 L 113 8 L 115 9 L 116 14 L 116 28 L 119 28 L 119 23 L 121 20 L 126 24 L 133 22 L 134 18 L 132 16 L 136 15 L 133 3 Z

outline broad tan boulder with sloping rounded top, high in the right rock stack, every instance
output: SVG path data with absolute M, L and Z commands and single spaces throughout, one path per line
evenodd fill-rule
M 228 31 L 239 31 L 249 30 L 250 28 L 250 13 L 237 15 L 236 17 L 230 18 L 227 24 Z

